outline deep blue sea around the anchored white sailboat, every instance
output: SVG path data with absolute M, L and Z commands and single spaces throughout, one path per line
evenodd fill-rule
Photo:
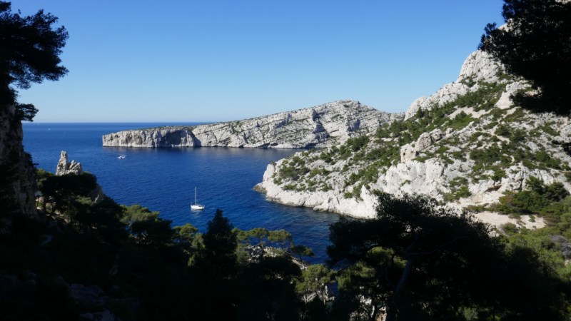
M 54 173 L 60 151 L 67 151 L 84 170 L 93 173 L 103 192 L 117 203 L 141 204 L 161 213 L 173 225 L 191 223 L 201 232 L 216 208 L 242 230 L 285 229 L 296 244 L 315 252 L 311 263 L 327 259 L 328 225 L 333 213 L 318 213 L 268 202 L 253 190 L 271 161 L 295 150 L 256 148 L 112 148 L 101 136 L 124 129 L 196 123 L 24 123 L 24 149 L 39 168 Z M 119 155 L 126 156 L 119 159 Z M 206 209 L 191 211 L 194 187 Z

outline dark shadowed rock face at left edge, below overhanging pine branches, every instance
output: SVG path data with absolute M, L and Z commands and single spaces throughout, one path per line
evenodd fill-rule
M 36 214 L 36 180 L 14 106 L 0 106 L 0 211 Z M 0 224 L 1 225 L 1 224 Z

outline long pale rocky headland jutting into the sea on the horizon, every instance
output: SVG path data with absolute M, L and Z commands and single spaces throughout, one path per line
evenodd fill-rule
M 358 101 L 335 101 L 243 121 L 120 131 L 103 136 L 113 147 L 325 148 L 373 133 L 403 113 L 385 113 Z

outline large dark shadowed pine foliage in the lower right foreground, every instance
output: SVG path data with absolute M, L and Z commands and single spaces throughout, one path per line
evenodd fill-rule
M 466 320 L 470 308 L 480 320 L 564 320 L 563 284 L 531 250 L 505 248 L 482 223 L 428 198 L 383 194 L 379 204 L 375 220 L 330 228 L 331 263 L 345 267 L 332 311 L 374 320 L 386 306 L 386 320 Z

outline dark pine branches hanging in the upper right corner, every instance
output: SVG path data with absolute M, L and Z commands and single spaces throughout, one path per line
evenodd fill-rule
M 540 88 L 516 95 L 521 106 L 569 115 L 571 106 L 571 4 L 557 0 L 504 0 L 507 28 L 488 24 L 480 49 L 502 61 L 508 72 Z

